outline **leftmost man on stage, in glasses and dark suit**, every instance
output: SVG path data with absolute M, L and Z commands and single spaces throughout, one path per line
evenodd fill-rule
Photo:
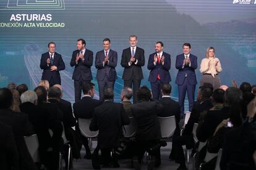
M 49 86 L 54 84 L 61 84 L 61 76 L 59 71 L 65 69 L 65 63 L 62 60 L 61 54 L 55 52 L 56 44 L 54 42 L 49 42 L 49 51 L 42 54 L 40 68 L 43 70 L 43 75 L 41 79 L 46 79 L 49 81 Z

